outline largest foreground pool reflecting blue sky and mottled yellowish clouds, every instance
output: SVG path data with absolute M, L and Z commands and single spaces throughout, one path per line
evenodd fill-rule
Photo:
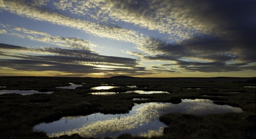
M 137 136 L 160 136 L 166 126 L 159 117 L 166 113 L 187 113 L 194 115 L 242 112 L 241 108 L 216 105 L 211 100 L 182 100 L 180 104 L 149 102 L 133 106 L 128 114 L 101 114 L 64 117 L 50 124 L 34 126 L 44 130 L 50 137 L 64 134 L 80 134 L 83 137 L 117 137 L 122 133 Z

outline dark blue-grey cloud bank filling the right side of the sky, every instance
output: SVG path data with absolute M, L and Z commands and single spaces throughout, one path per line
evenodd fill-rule
M 187 16 L 182 19 L 184 22 L 187 19 L 195 29 L 204 28 L 197 28 L 201 31 L 177 43 L 151 38 L 143 46 L 144 53 L 151 53 L 151 56 L 136 55 L 145 60 L 173 61 L 175 64 L 162 66 L 177 65 L 190 72 L 256 70 L 256 1 L 157 1 L 155 7 L 170 2 L 174 2 L 174 6 L 175 2 L 183 3 L 179 5 L 180 10 L 188 11 L 184 13 Z M 138 9 L 145 13 L 149 9 L 139 1 L 133 5 L 134 2 L 132 11 Z M 210 62 L 182 61 L 184 58 Z

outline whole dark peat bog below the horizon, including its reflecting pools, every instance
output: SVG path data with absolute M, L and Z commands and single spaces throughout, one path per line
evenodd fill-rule
M 71 82 L 76 88 L 68 88 Z M 0 138 L 255 138 L 255 87 L 244 87 L 255 86 L 255 78 L 0 77 L 0 86 L 0 92 L 41 92 L 0 94 Z M 118 88 L 92 89 L 99 86 Z M 115 95 L 94 95 L 101 92 Z M 224 110 L 227 107 L 236 110 Z M 63 125 L 76 121 L 80 125 L 73 130 L 86 135 L 50 136 L 34 128 L 58 120 Z M 141 124 L 143 132 L 135 133 Z

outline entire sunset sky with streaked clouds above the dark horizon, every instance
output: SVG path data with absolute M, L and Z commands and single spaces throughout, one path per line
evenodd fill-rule
M 256 0 L 0 0 L 0 76 L 255 77 Z

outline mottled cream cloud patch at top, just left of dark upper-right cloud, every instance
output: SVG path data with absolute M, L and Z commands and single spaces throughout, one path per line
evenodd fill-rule
M 188 38 L 193 31 L 182 22 L 174 19 L 175 14 L 182 10 L 175 10 L 172 3 L 179 1 L 103 1 L 100 10 L 108 11 L 108 16 L 115 21 L 124 21 L 135 26 L 149 30 L 157 30 L 159 33 L 168 34 L 172 40 Z M 185 9 L 184 9 L 185 10 Z

